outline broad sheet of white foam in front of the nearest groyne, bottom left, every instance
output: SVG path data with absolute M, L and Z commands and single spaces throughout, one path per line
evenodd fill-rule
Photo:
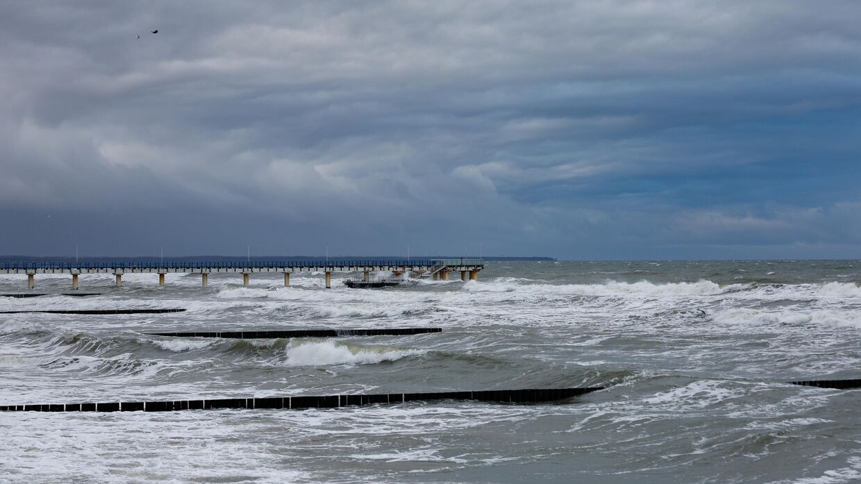
M 277 462 L 257 439 L 236 438 L 255 425 L 218 412 L 3 413 L 0 481 L 325 481 Z

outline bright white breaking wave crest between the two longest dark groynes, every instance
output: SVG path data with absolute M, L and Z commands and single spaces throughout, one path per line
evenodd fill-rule
M 286 348 L 287 366 L 375 364 L 424 355 L 427 351 L 389 346 L 358 346 L 333 341 L 293 340 Z

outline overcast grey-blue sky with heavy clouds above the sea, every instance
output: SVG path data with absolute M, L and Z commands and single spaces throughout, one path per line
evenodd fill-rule
M 861 258 L 858 19 L 0 0 L 0 254 Z

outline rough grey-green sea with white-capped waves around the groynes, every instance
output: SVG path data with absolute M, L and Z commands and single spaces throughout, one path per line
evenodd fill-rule
M 455 274 L 453 274 L 455 276 Z M 861 261 L 494 262 L 478 282 L 84 275 L 0 311 L 0 404 L 605 386 L 557 404 L 0 413 L 0 481 L 861 481 Z M 69 292 L 71 276 L 36 276 Z M 0 276 L 0 294 L 27 292 Z M 404 337 L 146 332 L 440 326 Z

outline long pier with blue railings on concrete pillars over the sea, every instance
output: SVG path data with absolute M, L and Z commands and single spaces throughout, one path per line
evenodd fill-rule
M 427 260 L 301 260 L 301 261 L 217 261 L 217 262 L 7 262 L 0 263 L 0 274 L 26 274 L 28 289 L 34 289 L 38 274 L 69 274 L 71 289 L 77 289 L 82 274 L 113 274 L 116 287 L 122 285 L 125 274 L 158 274 L 158 285 L 164 286 L 167 274 L 200 274 L 201 285 L 207 287 L 210 274 L 232 273 L 242 275 L 242 284 L 251 283 L 251 275 L 260 272 L 281 273 L 284 286 L 290 285 L 291 274 L 323 273 L 325 287 L 331 289 L 332 272 L 360 272 L 368 277 L 371 272 L 389 271 L 394 276 L 405 273 L 413 277 L 431 277 L 435 281 L 449 281 L 452 272 L 460 272 L 461 281 L 477 281 L 484 269 L 480 258 L 446 258 Z

